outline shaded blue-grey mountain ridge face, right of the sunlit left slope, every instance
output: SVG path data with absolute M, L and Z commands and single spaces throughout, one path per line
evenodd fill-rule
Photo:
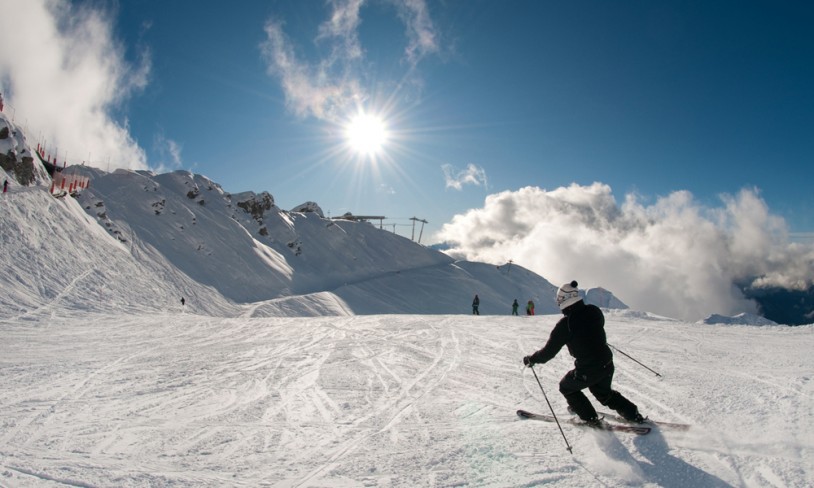
M 74 170 L 91 177 L 79 204 L 118 241 L 154 250 L 235 303 L 290 303 L 329 293 L 341 304 L 331 314 L 459 313 L 469 311 L 478 293 L 485 313 L 508 313 L 514 298 L 526 297 L 555 310 L 555 287 L 522 267 L 456 263 L 370 223 L 325 219 L 313 202 L 289 212 L 267 192 L 229 194 L 184 171 Z M 460 279 L 466 289 L 451 285 Z M 414 282 L 419 294 L 425 290 L 424 299 L 403 301 L 387 292 L 404 281 Z M 258 305 L 256 313 L 274 308 Z

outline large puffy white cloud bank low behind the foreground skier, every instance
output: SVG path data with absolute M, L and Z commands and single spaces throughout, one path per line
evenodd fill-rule
M 784 221 L 757 190 L 722 196 L 708 208 L 679 191 L 651 205 L 627 195 L 619 205 L 601 183 L 490 195 L 456 215 L 439 238 L 450 254 L 509 259 L 553 281 L 602 286 L 633 308 L 695 320 L 755 312 L 736 283 L 812 284 L 814 246 L 790 243 Z

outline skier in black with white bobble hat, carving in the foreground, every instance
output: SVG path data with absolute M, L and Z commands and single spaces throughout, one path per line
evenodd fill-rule
M 574 357 L 574 369 L 560 380 L 560 393 L 568 402 L 568 410 L 591 426 L 600 427 L 596 409 L 582 392 L 588 388 L 599 403 L 616 410 L 625 419 L 642 423 L 646 419 L 638 407 L 611 388 L 613 381 L 613 353 L 605 336 L 605 316 L 595 305 L 586 305 L 579 296 L 577 282 L 562 285 L 557 290 L 557 304 L 564 315 L 548 338 L 546 345 L 523 364 L 531 367 L 554 358 L 562 346 Z

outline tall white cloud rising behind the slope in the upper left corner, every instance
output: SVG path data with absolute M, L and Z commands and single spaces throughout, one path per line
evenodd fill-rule
M 103 169 L 146 168 L 127 121 L 112 113 L 146 85 L 149 57 L 129 65 L 100 10 L 66 0 L 8 0 L 2 10 L 0 83 L 29 143 L 58 150 L 60 162 L 90 155 Z

